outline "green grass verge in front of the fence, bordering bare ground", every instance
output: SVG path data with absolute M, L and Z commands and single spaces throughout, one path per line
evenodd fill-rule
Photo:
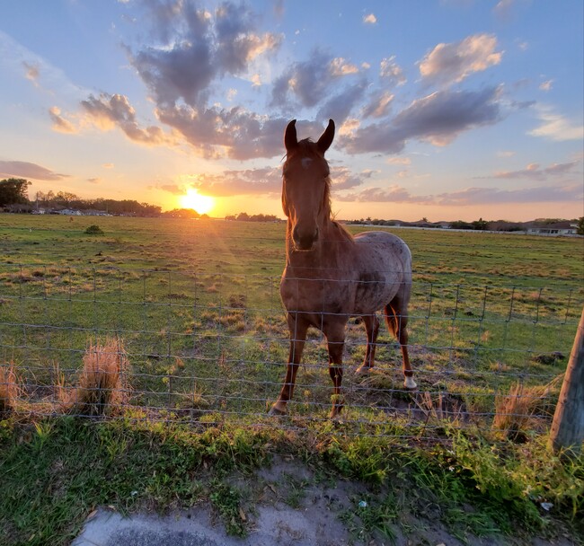
M 481 436 L 448 444 L 384 437 L 330 436 L 326 428 L 191 427 L 136 420 L 13 419 L 0 428 L 0 532 L 7 544 L 69 543 L 96 506 L 126 514 L 166 513 L 209 502 L 229 533 L 249 533 L 262 493 L 253 472 L 273 457 L 305 461 L 320 480 L 358 480 L 365 488 L 339 516 L 356 537 L 406 521 L 442 522 L 462 540 L 492 533 L 584 538 L 584 461 L 562 463 L 540 440 L 524 445 Z M 248 485 L 234 485 L 243 480 Z M 282 498 L 297 506 L 306 482 L 291 477 Z M 365 500 L 367 506 L 359 506 Z M 553 504 L 548 513 L 542 502 Z M 406 517 L 407 515 L 407 517 Z

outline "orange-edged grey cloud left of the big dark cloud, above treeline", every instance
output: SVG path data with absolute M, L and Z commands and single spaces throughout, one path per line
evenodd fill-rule
M 163 129 L 139 127 L 136 110 L 125 95 L 101 93 L 99 97 L 94 97 L 92 94 L 81 101 L 81 106 L 93 125 L 102 130 L 119 127 L 130 140 L 144 145 L 173 144 L 173 138 L 166 135 Z

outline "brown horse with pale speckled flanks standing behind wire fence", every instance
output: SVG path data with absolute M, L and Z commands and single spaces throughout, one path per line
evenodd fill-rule
M 280 295 L 288 312 L 290 354 L 286 378 L 270 415 L 286 413 L 310 326 L 323 331 L 329 349 L 333 393 L 331 417 L 342 409 L 342 352 L 350 317 L 360 316 L 367 330 L 367 351 L 358 373 L 373 367 L 379 320 L 384 310 L 389 330 L 403 354 L 404 385 L 415 389 L 408 356 L 408 303 L 411 294 L 411 253 L 398 237 L 386 232 L 353 237 L 332 220 L 329 164 L 324 153 L 334 137 L 334 122 L 317 142 L 298 141 L 296 119 L 284 136 L 282 207 L 288 216 L 286 269 Z

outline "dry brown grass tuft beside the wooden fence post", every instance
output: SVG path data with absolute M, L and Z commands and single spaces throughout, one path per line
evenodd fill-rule
M 561 385 L 562 375 L 546 385 L 511 385 L 509 394 L 495 398 L 492 427 L 511 440 L 525 439 L 529 430 L 541 427 L 542 418 L 553 415 Z

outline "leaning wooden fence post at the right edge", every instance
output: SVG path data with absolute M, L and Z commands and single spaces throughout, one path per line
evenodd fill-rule
M 578 455 L 584 441 L 584 309 L 553 414 L 550 446 L 555 454 L 568 450 Z

